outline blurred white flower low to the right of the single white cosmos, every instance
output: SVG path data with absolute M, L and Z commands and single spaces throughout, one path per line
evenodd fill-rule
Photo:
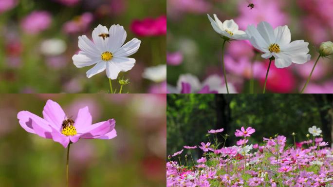
M 148 67 L 142 74 L 144 78 L 147 78 L 154 82 L 162 82 L 166 80 L 166 64 Z

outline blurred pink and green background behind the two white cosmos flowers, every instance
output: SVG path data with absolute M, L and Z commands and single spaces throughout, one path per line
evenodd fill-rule
M 247 7 L 249 2 L 255 4 L 252 10 Z M 309 42 L 311 61 L 284 69 L 272 65 L 269 72 L 266 91 L 298 93 L 318 56 L 316 49 L 321 42 L 333 40 L 332 9 L 332 0 L 167 0 L 167 83 L 176 86 L 184 74 L 192 74 L 200 81 L 211 75 L 219 75 L 222 79 L 223 40 L 206 15 L 215 13 L 221 21 L 234 19 L 241 30 L 260 21 L 269 22 L 273 28 L 288 25 L 292 41 L 304 39 Z M 253 66 L 251 62 L 254 62 Z M 227 80 L 238 93 L 250 92 L 251 68 L 254 92 L 262 93 L 268 62 L 256 56 L 252 46 L 245 41 L 226 44 Z M 333 93 L 332 70 L 332 58 L 320 59 L 304 93 Z M 219 87 L 224 86 L 224 79 L 215 82 Z

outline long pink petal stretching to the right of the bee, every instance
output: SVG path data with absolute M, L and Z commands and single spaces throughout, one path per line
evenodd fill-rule
M 82 133 L 81 138 L 98 138 L 99 136 L 103 136 L 106 133 L 112 131 L 115 126 L 115 120 L 109 119 L 108 121 L 103 121 L 99 123 L 95 123 L 88 128 L 80 131 L 79 133 Z

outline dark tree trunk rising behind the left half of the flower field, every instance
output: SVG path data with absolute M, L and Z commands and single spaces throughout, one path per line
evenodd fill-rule
M 215 94 L 215 103 L 216 103 L 216 124 L 215 129 L 223 128 L 224 131 L 222 134 L 229 133 L 230 131 L 230 121 L 231 121 L 231 111 L 230 111 L 230 103 L 225 98 L 225 94 Z M 219 142 L 224 142 L 222 136 L 218 136 Z M 225 146 L 230 146 L 229 138 L 225 142 Z

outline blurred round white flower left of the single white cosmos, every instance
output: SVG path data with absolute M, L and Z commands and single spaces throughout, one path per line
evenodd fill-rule
M 64 53 L 66 49 L 66 42 L 62 39 L 46 39 L 40 44 L 40 52 L 46 56 L 60 55 Z

